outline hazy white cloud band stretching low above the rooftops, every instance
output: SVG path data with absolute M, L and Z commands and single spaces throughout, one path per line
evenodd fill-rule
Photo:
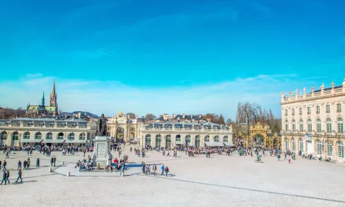
M 7 97 L 1 100 L 2 107 L 25 107 L 28 102 L 37 104 L 43 91 L 48 99 L 54 80 L 59 108 L 63 111 L 88 110 L 111 115 L 121 110 L 139 116 L 148 112 L 155 115 L 215 112 L 231 118 L 235 117 L 238 101 L 257 102 L 280 116 L 280 93 L 302 84 L 296 75 L 258 75 L 222 83 L 166 88 L 140 88 L 118 81 L 26 77 L 0 83 L 0 97 Z M 306 81 L 303 84 L 309 86 Z

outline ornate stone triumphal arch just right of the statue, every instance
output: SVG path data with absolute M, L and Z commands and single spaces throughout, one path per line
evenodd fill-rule
M 107 122 L 108 136 L 113 141 L 118 141 L 119 139 L 134 141 L 137 139 L 137 120 L 137 115 L 132 119 L 129 115 L 126 116 L 121 111 L 118 115 L 112 115 L 111 118 L 108 118 Z

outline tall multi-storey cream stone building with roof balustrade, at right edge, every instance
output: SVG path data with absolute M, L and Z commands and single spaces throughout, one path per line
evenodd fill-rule
M 315 157 L 344 159 L 345 79 L 303 94 L 282 93 L 282 149 Z

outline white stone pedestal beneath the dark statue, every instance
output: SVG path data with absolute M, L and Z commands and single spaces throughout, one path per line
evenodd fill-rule
M 112 159 L 110 153 L 110 137 L 106 136 L 96 136 L 95 146 L 92 154 L 93 166 L 100 164 L 101 166 L 106 166 L 108 164 L 109 158 Z

